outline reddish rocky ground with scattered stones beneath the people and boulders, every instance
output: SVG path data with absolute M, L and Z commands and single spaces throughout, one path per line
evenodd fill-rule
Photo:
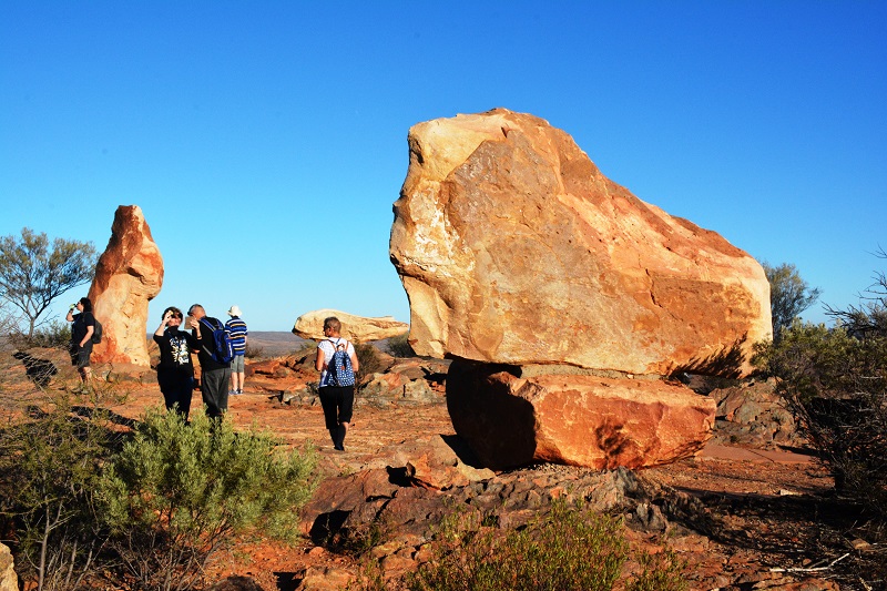
M 435 516 L 453 501 L 495 510 L 507 524 L 564 491 L 625 517 L 635 547 L 677 552 L 691 589 L 887 589 L 884 524 L 834 496 L 832 479 L 798 449 L 766 385 L 734 384 L 711 394 L 721 403 L 718 432 L 693 460 L 636 473 L 550 465 L 492 473 L 448 463 L 463 450 L 448 418 L 439 363 L 401 361 L 377 377 L 356 407 L 345 452 L 329 445 L 308 365 L 294 357 L 253 364 L 246 394 L 230 401 L 237 425 L 268 428 L 293 446 L 318 446 L 327 479 L 303 513 L 306 536 L 295 548 L 239 540 L 210 565 L 207 579 L 220 589 L 341 589 L 367 560 L 395 575 L 417 568 Z M 0 378 L 21 384 L 28 366 L 28 359 L 4 360 Z M 161 396 L 153 376 L 142 384 L 124 369 L 111 377 L 128 397 L 112 410 L 135 419 Z M 11 399 L 0 401 L 14 410 Z M 318 534 L 320 518 L 328 526 L 334 513 L 353 531 L 384 517 L 390 524 L 385 543 L 363 559 L 337 551 L 325 543 L 328 531 Z

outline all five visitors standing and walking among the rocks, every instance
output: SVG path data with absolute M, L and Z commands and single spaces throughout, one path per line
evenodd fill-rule
M 77 309 L 77 313 L 74 310 Z M 246 323 L 241 318 L 241 308 L 232 306 L 231 319 L 224 329 L 231 336 L 234 356 L 231 363 L 220 363 L 213 356 L 213 329 L 221 326 L 217 318 L 206 315 L 200 304 L 187 310 L 185 322 L 182 310 L 170 306 L 163 310 L 160 326 L 154 332 L 154 342 L 160 348 L 157 365 L 157 384 L 163 394 L 167 410 L 175 410 L 187 420 L 191 410 L 191 398 L 194 391 L 194 364 L 192 351 L 197 353 L 201 364 L 201 395 L 206 406 L 206 415 L 221 418 L 228 408 L 228 396 L 243 394 L 248 332 Z M 95 330 L 95 317 L 92 314 L 92 302 L 81 297 L 68 310 L 65 319 L 71 324 L 71 363 L 78 368 L 84 383 L 92 378 L 90 356 L 92 355 L 92 335 Z M 182 330 L 182 324 L 191 332 Z M 320 371 L 318 395 L 324 409 L 324 422 L 336 450 L 345 450 L 345 436 L 351 422 L 354 411 L 354 380 L 343 385 L 336 379 L 336 371 L 330 364 L 337 351 L 343 351 L 350 365 L 349 370 L 357 373 L 360 364 L 354 345 L 341 337 L 341 323 L 335 316 L 324 320 L 324 338 L 317 345 L 315 368 Z

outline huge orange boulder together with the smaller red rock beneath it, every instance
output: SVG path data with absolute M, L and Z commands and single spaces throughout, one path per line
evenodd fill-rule
M 490 467 L 642 467 L 699 451 L 771 338 L 761 265 L 613 183 L 563 131 L 497 109 L 415 125 L 389 254 L 419 355 L 457 359 L 456 431 Z M 456 373 L 456 375 L 453 375 Z

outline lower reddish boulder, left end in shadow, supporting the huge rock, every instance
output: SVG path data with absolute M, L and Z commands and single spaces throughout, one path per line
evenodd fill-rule
M 521 376 L 520 368 L 453 361 L 447 408 L 483 466 L 548 461 L 610 469 L 669 463 L 702 450 L 714 400 L 662 380 Z

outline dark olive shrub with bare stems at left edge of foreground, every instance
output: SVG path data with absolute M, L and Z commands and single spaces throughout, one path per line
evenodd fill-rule
M 38 590 L 73 590 L 106 562 L 96 512 L 100 468 L 119 444 L 110 417 L 65 391 L 0 431 L 0 514 L 16 564 Z

